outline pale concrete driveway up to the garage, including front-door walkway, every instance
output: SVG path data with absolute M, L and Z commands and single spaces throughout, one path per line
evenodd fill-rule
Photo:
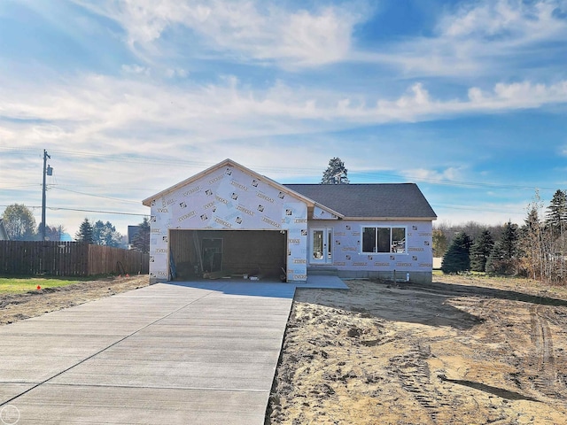
M 159 283 L 0 327 L 0 425 L 261 425 L 295 288 Z

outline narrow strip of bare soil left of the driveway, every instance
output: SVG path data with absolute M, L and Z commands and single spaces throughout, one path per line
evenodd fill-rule
M 127 290 L 148 286 L 149 276 L 108 278 L 78 282 L 59 288 L 30 290 L 24 294 L 0 296 L 0 325 L 40 316 L 55 310 L 110 297 Z

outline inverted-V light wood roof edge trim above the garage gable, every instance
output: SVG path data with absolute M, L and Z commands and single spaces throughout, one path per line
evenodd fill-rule
M 218 163 L 215 166 L 211 166 L 211 167 L 207 168 L 206 170 L 201 171 L 200 173 L 193 175 L 192 177 L 184 180 L 183 182 L 179 182 L 179 183 L 175 184 L 174 186 L 171 186 L 170 188 L 164 189 L 164 190 L 160 191 L 159 193 L 144 199 L 144 201 L 142 201 L 142 204 L 146 205 L 146 206 L 151 206 L 152 200 L 158 199 L 159 197 L 165 197 L 167 194 L 174 192 L 177 189 L 181 189 L 184 186 L 191 184 L 192 182 L 196 182 L 199 179 L 202 179 L 203 177 L 205 177 L 207 174 L 214 173 L 216 170 L 218 170 L 222 167 L 225 167 L 225 166 L 234 166 L 234 167 L 238 168 L 240 171 L 244 172 L 245 174 L 252 176 L 252 178 L 256 178 L 260 181 L 268 182 L 270 185 L 276 187 L 279 190 L 282 190 L 285 193 L 288 193 L 292 197 L 296 197 L 299 200 L 304 201 L 308 206 L 315 206 L 316 205 L 316 206 L 321 207 L 323 210 L 325 210 L 325 211 L 327 211 L 331 214 L 337 215 L 338 217 L 342 217 L 341 213 L 338 213 L 336 211 L 331 210 L 328 206 L 320 205 L 315 200 L 313 200 L 309 197 L 306 197 L 305 195 L 303 195 L 299 192 L 296 192 L 293 189 L 290 189 L 287 186 L 266 177 L 265 175 L 258 174 L 256 172 L 252 171 L 250 168 L 246 168 L 245 166 L 241 166 L 240 164 L 238 164 L 237 162 L 235 162 L 235 161 L 233 161 L 232 159 L 229 159 L 229 158 L 225 159 L 224 161 L 221 161 L 220 163 Z

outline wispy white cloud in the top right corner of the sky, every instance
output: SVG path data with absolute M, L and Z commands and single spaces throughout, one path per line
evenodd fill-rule
M 401 69 L 406 76 L 478 76 L 548 66 L 567 54 L 565 0 L 459 2 L 439 17 L 433 34 L 353 51 L 350 58 Z

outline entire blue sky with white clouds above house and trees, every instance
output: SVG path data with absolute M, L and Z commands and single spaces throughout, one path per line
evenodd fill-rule
M 39 223 L 45 149 L 73 235 L 224 158 L 285 183 L 339 157 L 439 222 L 521 223 L 567 189 L 566 112 L 567 0 L 0 2 L 0 213 Z

